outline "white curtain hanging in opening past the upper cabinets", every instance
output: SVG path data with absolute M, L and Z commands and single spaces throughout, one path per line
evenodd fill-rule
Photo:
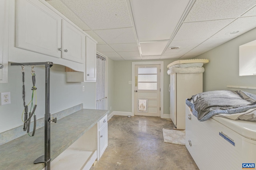
M 106 109 L 106 94 L 105 94 L 105 82 L 106 82 L 106 58 L 100 55 L 97 57 L 97 80 L 96 80 L 96 108 Z

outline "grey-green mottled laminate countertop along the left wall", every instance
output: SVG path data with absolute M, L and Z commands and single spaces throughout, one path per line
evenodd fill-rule
M 102 119 L 108 110 L 81 109 L 51 123 L 51 158 L 54 160 L 86 131 Z M 57 117 L 58 119 L 58 117 Z M 0 169 L 42 170 L 44 163 L 34 160 L 44 155 L 44 127 L 34 137 L 24 135 L 0 146 Z

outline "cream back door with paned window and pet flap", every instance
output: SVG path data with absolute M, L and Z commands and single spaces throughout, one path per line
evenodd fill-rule
M 160 64 L 135 65 L 134 114 L 160 116 Z

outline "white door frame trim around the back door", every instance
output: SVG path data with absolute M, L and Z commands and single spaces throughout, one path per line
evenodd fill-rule
M 135 65 L 152 65 L 152 64 L 160 64 L 160 117 L 161 118 L 166 118 L 164 116 L 164 61 L 141 61 L 141 62 L 132 62 L 132 116 L 134 116 L 134 77 L 135 77 Z M 170 117 L 168 117 L 170 118 Z

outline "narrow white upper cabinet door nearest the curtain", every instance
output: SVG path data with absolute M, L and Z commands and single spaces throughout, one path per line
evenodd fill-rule
M 86 74 L 85 79 L 96 81 L 96 43 L 89 37 L 86 37 Z

